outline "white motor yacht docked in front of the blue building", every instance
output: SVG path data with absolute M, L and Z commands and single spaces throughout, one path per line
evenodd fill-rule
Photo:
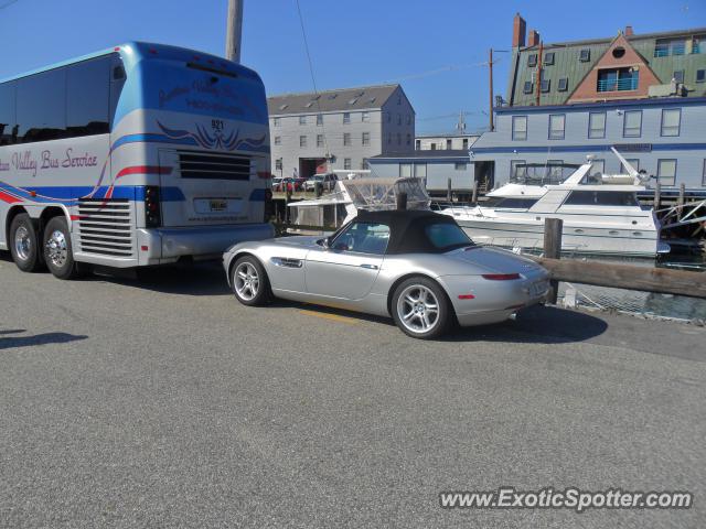
M 528 164 L 489 193 L 488 202 L 440 213 L 456 218 L 475 242 L 515 250 L 542 251 L 545 218 L 560 218 L 564 252 L 649 258 L 668 252 L 653 209 L 638 202 L 646 174 L 612 151 L 628 174 L 590 174 L 590 156 L 582 165 Z

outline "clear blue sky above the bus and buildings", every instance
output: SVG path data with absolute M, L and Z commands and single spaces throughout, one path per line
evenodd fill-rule
M 129 40 L 223 54 L 227 0 L 0 0 L 0 77 Z M 319 88 L 399 80 L 417 131 L 488 121 L 488 48 L 520 11 L 545 42 L 706 26 L 705 0 L 300 0 Z M 7 6 L 2 8 L 2 6 Z M 268 94 L 311 89 L 295 0 L 245 0 L 243 63 Z M 495 93 L 505 95 L 507 55 Z M 454 115 L 454 117 L 449 117 Z

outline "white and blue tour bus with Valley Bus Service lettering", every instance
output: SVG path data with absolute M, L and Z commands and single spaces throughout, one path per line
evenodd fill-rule
M 0 82 L 0 249 L 24 271 L 271 237 L 269 171 L 263 82 L 221 57 L 136 42 Z

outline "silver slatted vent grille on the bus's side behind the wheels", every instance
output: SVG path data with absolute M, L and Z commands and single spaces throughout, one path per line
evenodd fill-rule
M 127 198 L 83 198 L 78 202 L 76 224 L 82 251 L 132 257 L 135 219 Z

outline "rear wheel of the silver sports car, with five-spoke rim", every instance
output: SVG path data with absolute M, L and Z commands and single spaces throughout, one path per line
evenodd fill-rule
M 436 338 L 449 328 L 452 314 L 441 287 L 428 278 L 403 281 L 393 294 L 393 319 L 397 326 L 414 338 Z

